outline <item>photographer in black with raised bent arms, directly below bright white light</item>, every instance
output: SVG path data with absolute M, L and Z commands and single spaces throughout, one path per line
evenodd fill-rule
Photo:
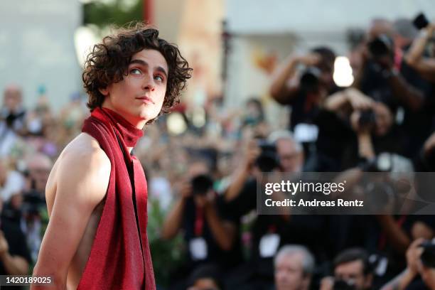
M 336 92 L 323 102 L 318 124 L 316 154 L 305 171 L 338 172 L 382 151 L 400 153 L 403 136 L 391 110 L 353 87 Z

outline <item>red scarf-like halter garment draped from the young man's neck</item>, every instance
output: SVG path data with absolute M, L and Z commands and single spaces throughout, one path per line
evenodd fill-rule
M 77 289 L 154 290 L 146 235 L 146 178 L 139 161 L 127 150 L 143 132 L 105 108 L 95 109 L 82 131 L 97 139 L 112 168 L 101 220 Z

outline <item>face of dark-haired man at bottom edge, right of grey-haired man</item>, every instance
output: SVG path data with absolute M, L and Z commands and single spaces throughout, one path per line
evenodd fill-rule
M 372 284 L 370 275 L 364 274 L 364 265 L 361 260 L 339 264 L 334 270 L 335 279 L 353 284 L 356 289 L 369 289 Z

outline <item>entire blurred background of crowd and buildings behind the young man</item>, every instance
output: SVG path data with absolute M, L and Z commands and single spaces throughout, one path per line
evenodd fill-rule
M 398 173 L 434 171 L 434 19 L 430 0 L 1 1 L 0 274 L 38 257 L 85 56 L 145 21 L 193 68 L 134 149 L 158 289 L 435 289 L 431 215 L 257 215 L 255 196 L 261 172 L 382 171 L 355 192 L 397 199 Z

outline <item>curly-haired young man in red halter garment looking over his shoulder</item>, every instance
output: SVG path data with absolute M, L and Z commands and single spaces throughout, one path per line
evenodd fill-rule
M 131 149 L 145 124 L 179 102 L 190 71 L 178 48 L 143 24 L 94 46 L 82 75 L 92 114 L 50 173 L 34 276 L 52 276 L 55 289 L 156 289 L 146 179 Z

